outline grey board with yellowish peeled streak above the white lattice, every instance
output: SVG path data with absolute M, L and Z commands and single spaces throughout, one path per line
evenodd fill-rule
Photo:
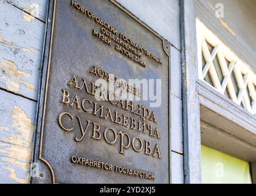
M 199 20 L 256 71 L 256 7 L 251 7 L 246 1 L 241 0 L 194 2 Z M 219 3 L 223 5 L 224 18 L 215 17 L 215 5 Z M 252 1 L 250 3 L 252 4 Z

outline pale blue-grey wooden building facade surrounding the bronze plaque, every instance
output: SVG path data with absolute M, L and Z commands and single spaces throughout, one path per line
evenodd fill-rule
M 33 160 L 52 2 L 0 0 L 0 183 L 45 175 Z M 170 43 L 169 183 L 256 183 L 256 2 L 114 2 Z

